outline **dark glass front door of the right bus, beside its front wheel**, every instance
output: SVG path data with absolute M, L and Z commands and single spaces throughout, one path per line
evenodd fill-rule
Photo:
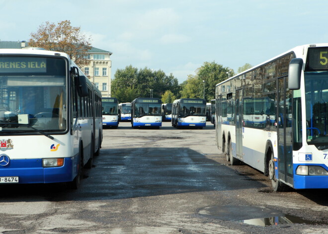
M 292 91 L 288 77 L 278 79 L 278 172 L 279 179 L 293 185 Z

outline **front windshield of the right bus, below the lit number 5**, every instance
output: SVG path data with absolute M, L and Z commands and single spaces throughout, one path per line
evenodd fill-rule
M 328 72 L 305 72 L 307 143 L 328 148 Z

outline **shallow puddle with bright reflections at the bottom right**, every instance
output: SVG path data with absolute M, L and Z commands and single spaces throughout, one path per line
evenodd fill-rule
M 249 219 L 249 220 L 242 220 L 240 221 L 245 224 L 255 225 L 255 226 L 277 226 L 282 224 L 310 224 L 310 225 L 324 225 L 327 223 L 323 222 L 315 222 L 304 220 L 297 216 L 292 215 L 285 215 L 285 216 L 276 216 L 276 217 L 269 217 L 269 218 L 259 218 L 259 219 Z

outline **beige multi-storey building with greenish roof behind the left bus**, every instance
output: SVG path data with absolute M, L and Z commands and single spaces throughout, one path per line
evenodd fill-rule
M 0 49 L 22 49 L 24 47 L 28 47 L 28 43 L 25 41 L 0 41 Z M 90 81 L 99 88 L 103 97 L 111 96 L 111 55 L 112 52 L 92 47 L 87 52 L 87 59 L 90 60 L 90 63 L 82 68 Z

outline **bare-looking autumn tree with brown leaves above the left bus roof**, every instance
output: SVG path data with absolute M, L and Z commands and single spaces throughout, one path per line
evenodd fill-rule
M 67 53 L 75 59 L 75 63 L 79 67 L 89 63 L 84 55 L 92 48 L 89 42 L 90 38 L 81 33 L 80 27 L 71 26 L 70 20 L 58 22 L 57 25 L 47 21 L 30 36 L 28 44 L 31 47 Z

